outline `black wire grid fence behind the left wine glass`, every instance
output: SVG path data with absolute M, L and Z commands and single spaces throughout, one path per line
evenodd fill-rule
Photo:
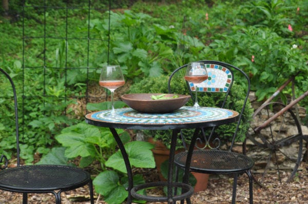
M 100 66 L 109 62 L 110 40 L 111 0 L 34 2 L 24 1 L 22 8 L 20 117 L 22 135 L 28 144 L 34 142 L 29 142 L 31 139 L 37 140 L 35 134 L 52 135 L 58 124 L 80 119 L 83 113 L 78 115 L 70 105 L 82 101 L 85 106 L 93 98 L 103 97 L 89 94 L 89 86 L 98 80 Z M 97 29 L 98 25 L 105 27 L 104 31 Z M 40 131 L 42 127 L 45 130 Z M 48 140 L 50 136 L 42 136 L 36 144 Z

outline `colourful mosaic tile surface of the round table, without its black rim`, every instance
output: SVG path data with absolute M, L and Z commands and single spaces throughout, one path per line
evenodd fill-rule
M 86 115 L 86 117 L 113 124 L 174 125 L 222 120 L 235 117 L 238 114 L 237 112 L 227 109 L 201 107 L 196 110 L 194 107 L 188 106 L 184 106 L 172 113 L 164 114 L 140 113 L 131 108 L 115 109 L 115 112 L 118 114 L 115 118 L 108 116 L 108 114 L 110 114 L 109 110 L 91 113 Z

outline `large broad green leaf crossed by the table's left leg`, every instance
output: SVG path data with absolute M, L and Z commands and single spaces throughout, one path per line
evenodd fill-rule
M 151 151 L 154 147 L 152 144 L 145 141 L 132 141 L 125 144 L 124 147 L 131 166 L 155 168 L 155 161 Z M 127 173 L 123 156 L 120 151 L 111 155 L 105 165 L 123 173 Z

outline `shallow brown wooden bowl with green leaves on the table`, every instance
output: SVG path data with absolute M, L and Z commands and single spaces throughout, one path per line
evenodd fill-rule
M 130 108 L 142 113 L 170 113 L 184 106 L 190 99 L 190 95 L 166 94 L 164 97 L 178 95 L 177 98 L 152 99 L 152 95 L 161 95 L 162 93 L 133 93 L 124 94 L 121 99 Z

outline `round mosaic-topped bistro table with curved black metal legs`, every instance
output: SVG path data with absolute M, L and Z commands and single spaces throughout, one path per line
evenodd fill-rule
M 108 127 L 114 136 L 120 151 L 123 155 L 125 166 L 128 175 L 128 198 L 127 203 L 132 202 L 132 197 L 151 201 L 151 202 L 168 202 L 175 203 L 176 200 L 186 199 L 190 203 L 189 197 L 194 193 L 194 189 L 188 184 L 188 174 L 192 150 L 200 131 L 200 128 L 220 126 L 228 123 L 234 123 L 237 120 L 238 112 L 222 108 L 194 107 L 184 106 L 172 113 L 154 114 L 140 113 L 131 108 L 115 109 L 116 117 L 110 117 L 110 110 L 98 111 L 89 113 L 85 116 L 86 123 L 94 126 Z M 172 130 L 170 155 L 169 155 L 169 170 L 168 180 L 145 183 L 133 187 L 132 171 L 128 160 L 124 145 L 115 131 L 115 129 L 130 129 L 130 130 Z M 183 182 L 172 182 L 173 163 L 176 150 L 177 135 L 181 129 L 195 128 L 194 136 L 191 139 L 191 144 L 188 150 L 186 169 L 183 177 Z M 167 196 L 145 196 L 138 194 L 137 191 L 149 187 L 167 186 Z M 172 195 L 172 188 L 182 188 L 181 195 Z

